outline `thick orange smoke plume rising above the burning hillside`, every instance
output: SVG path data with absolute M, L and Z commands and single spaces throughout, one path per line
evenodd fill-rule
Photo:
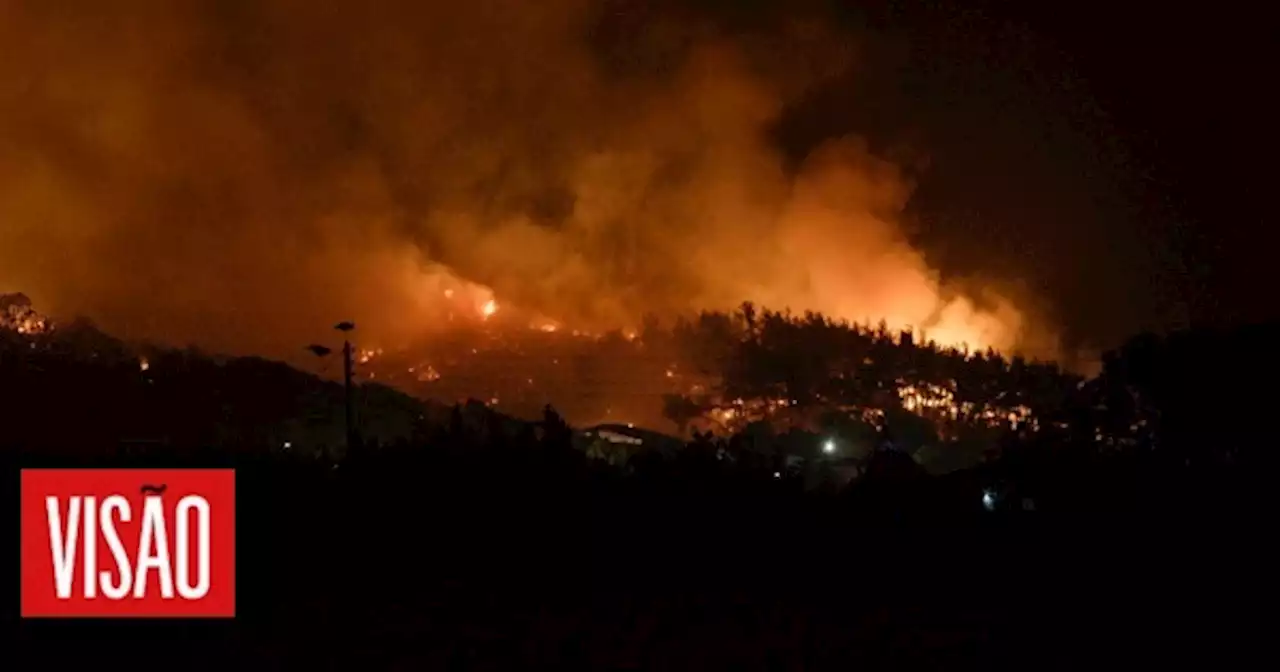
M 0 4 L 0 289 L 266 353 L 339 319 L 421 334 L 449 288 L 593 325 L 754 300 L 1053 353 L 906 243 L 899 166 L 858 138 L 783 160 L 772 124 L 851 65 L 820 23 L 628 12 Z

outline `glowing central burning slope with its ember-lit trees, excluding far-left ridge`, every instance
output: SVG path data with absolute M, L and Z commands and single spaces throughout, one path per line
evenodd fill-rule
M 938 442 L 957 440 L 963 428 L 1038 431 L 1033 406 L 1052 408 L 1076 380 L 993 351 L 918 343 L 884 325 L 751 305 L 591 333 L 485 303 L 412 347 L 358 348 L 357 369 L 424 398 L 474 398 L 524 417 L 550 403 L 579 425 L 815 430 L 835 413 L 878 430 L 905 412 L 931 422 Z M 1048 387 L 1037 396 L 1019 387 L 1028 380 Z

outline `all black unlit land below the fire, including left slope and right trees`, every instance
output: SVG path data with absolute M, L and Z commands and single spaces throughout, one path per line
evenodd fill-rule
M 1221 666 L 1243 655 L 1238 616 L 1268 557 L 1256 465 L 1274 335 L 1135 339 L 1076 387 L 1089 403 L 1062 403 L 1061 431 L 1006 433 L 946 476 L 877 452 L 860 479 L 806 493 L 773 465 L 718 458 L 731 440 L 614 467 L 575 449 L 550 408 L 518 422 L 392 390 L 371 404 L 410 419 L 393 439 L 296 449 L 289 431 L 340 417 L 339 385 L 262 360 L 140 353 L 87 324 L 0 332 L 6 500 L 32 466 L 232 466 L 239 493 L 236 622 L 8 630 L 46 667 L 145 650 L 207 668 L 1078 668 L 1192 649 Z M 750 369 L 735 352 L 769 343 L 712 356 Z M 991 366 L 1016 380 L 1015 362 Z M 1157 431 L 1097 439 L 1139 406 Z M 1010 506 L 988 511 L 992 492 Z

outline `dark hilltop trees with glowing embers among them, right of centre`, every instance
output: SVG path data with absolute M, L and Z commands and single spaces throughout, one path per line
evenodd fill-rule
M 906 451 L 928 448 L 932 454 L 963 444 L 960 452 L 972 456 L 982 452 L 975 443 L 995 436 L 960 431 L 961 425 L 1011 425 L 1016 422 L 1010 416 L 1021 421 L 1032 413 L 1053 415 L 1079 383 L 1051 364 L 1006 360 L 992 349 L 943 348 L 910 330 L 893 333 L 883 321 L 849 324 L 750 302 L 732 314 L 703 312 L 677 323 L 673 342 L 700 374 L 716 380 L 705 398 L 663 398 L 664 417 L 681 433 L 699 415 L 714 416 L 722 408 L 728 415 L 722 411 L 721 419 L 735 419 L 732 429 L 764 413 L 873 443 L 868 433 L 887 424 Z M 909 389 L 946 398 L 906 406 L 900 396 Z M 876 411 L 877 420 L 864 419 L 865 411 Z

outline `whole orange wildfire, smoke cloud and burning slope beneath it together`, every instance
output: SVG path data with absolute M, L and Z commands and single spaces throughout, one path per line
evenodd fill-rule
M 913 244 L 916 163 L 780 142 L 854 64 L 820 23 L 125 4 L 0 9 L 0 287 L 60 320 L 330 376 L 303 348 L 351 320 L 365 380 L 580 425 L 1037 426 L 988 348 L 1056 357 L 1055 329 Z

